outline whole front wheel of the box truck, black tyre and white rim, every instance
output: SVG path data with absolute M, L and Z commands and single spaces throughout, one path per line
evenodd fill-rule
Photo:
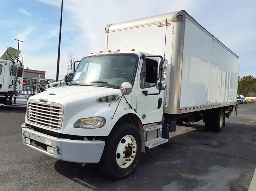
M 102 170 L 114 179 L 129 175 L 138 162 L 141 136 L 132 124 L 121 125 L 110 133 L 101 157 Z

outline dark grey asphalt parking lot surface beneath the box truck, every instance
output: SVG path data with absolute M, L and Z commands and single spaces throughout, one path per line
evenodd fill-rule
M 113 181 L 97 165 L 63 162 L 23 145 L 25 108 L 0 107 L 0 190 L 247 191 L 256 167 L 256 103 L 240 104 L 220 132 L 177 126 L 168 143 L 141 154 L 129 177 Z

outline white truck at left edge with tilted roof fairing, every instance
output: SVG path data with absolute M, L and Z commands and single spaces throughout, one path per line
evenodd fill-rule
M 27 105 L 30 94 L 23 94 L 24 66 L 20 51 L 8 47 L 0 57 L 0 105 Z

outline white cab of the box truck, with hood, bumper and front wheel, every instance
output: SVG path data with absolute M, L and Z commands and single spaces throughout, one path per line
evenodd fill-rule
M 110 176 L 126 176 L 146 146 L 168 141 L 169 131 L 162 134 L 157 123 L 163 118 L 166 68 L 162 56 L 138 51 L 84 57 L 69 86 L 28 99 L 24 144 L 70 162 L 110 162 L 111 168 L 116 162 Z M 40 149 L 32 144 L 38 142 Z

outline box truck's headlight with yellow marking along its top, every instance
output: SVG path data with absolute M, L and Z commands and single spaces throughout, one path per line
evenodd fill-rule
M 104 117 L 90 117 L 77 120 L 74 128 L 101 128 L 105 125 L 106 120 Z

